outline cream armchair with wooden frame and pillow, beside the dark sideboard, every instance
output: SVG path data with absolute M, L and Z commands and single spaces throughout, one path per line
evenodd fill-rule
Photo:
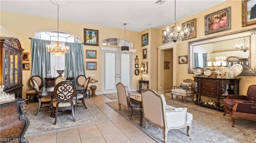
M 173 95 L 182 96 L 184 98 L 184 103 L 186 103 L 186 96 L 194 96 L 194 80 L 192 79 L 184 79 L 183 82 L 179 86 L 173 86 L 172 89 L 172 99 Z

